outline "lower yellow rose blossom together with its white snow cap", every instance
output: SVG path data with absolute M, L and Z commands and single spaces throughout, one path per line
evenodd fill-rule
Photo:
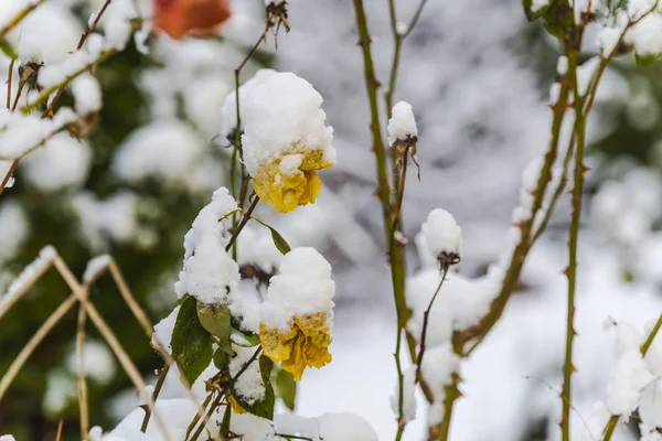
M 306 366 L 331 362 L 334 294 L 331 266 L 314 248 L 289 251 L 271 278 L 261 305 L 260 342 L 265 355 L 281 362 L 296 380 Z

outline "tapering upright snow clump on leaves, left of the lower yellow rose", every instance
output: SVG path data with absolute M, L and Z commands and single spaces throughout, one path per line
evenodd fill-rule
M 184 236 L 184 266 L 174 290 L 179 298 L 195 297 L 206 304 L 227 304 L 241 314 L 239 267 L 225 251 L 229 219 L 221 219 L 237 208 L 227 189 L 214 192 L 212 202 L 200 211 Z

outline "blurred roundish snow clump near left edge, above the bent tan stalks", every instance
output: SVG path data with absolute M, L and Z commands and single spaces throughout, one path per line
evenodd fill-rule
M 21 161 L 28 182 L 46 192 L 82 185 L 90 165 L 89 146 L 65 132 L 55 135 Z

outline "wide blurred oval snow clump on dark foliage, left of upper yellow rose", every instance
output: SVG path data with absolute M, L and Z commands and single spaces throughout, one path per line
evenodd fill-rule
M 161 120 L 129 136 L 115 153 L 113 170 L 129 182 L 153 176 L 185 184 L 203 153 L 204 143 L 189 126 L 178 120 Z

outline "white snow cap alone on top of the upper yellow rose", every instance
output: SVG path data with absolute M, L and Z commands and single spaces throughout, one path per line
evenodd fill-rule
M 250 175 L 288 151 L 322 151 L 323 162 L 335 162 L 333 129 L 324 126 L 322 96 L 291 73 L 267 75 L 241 103 L 245 122 L 242 146 Z

